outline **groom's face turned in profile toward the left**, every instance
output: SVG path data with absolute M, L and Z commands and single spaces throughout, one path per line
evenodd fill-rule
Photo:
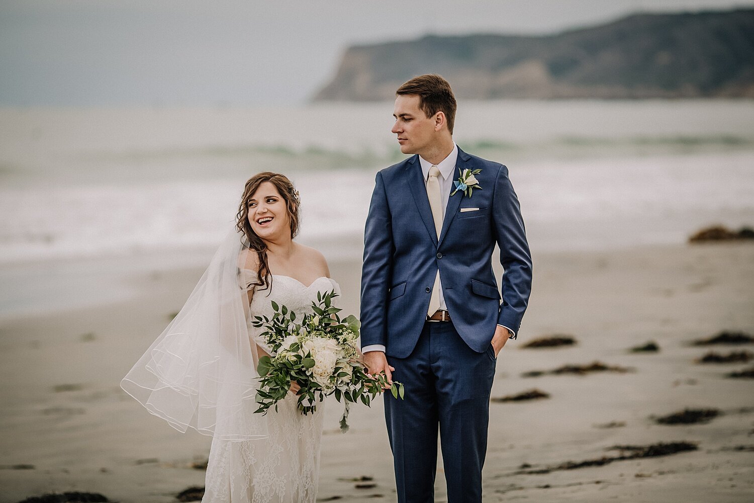
M 421 155 L 437 141 L 435 117 L 427 117 L 419 108 L 418 94 L 399 94 L 393 116 L 392 132 L 398 136 L 400 152 Z

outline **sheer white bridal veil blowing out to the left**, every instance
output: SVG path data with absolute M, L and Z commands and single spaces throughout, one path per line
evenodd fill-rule
M 242 269 L 247 238 L 228 233 L 173 321 L 121 381 L 121 388 L 155 416 L 185 432 L 220 440 L 267 436 L 254 414 L 259 375 L 249 333 L 249 302 Z

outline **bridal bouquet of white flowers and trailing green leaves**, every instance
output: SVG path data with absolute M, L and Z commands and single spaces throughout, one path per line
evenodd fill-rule
M 277 410 L 277 402 L 283 400 L 292 382 L 301 387 L 296 393 L 298 408 L 302 414 L 314 413 L 317 402 L 335 394 L 343 399 L 345 410 L 340 420 L 340 429 L 348 431 L 348 410 L 351 402 L 360 400 L 369 406 L 374 397 L 388 388 L 385 374 L 369 376 L 358 359 L 356 340 L 360 323 L 349 315 L 341 320 L 341 309 L 332 305 L 338 294 L 335 290 L 317 293 L 317 302 L 312 302 L 312 314 L 301 320 L 284 305 L 272 302 L 271 318 L 255 316 L 252 324 L 262 327 L 268 346 L 275 356 L 259 358 L 260 385 L 256 401 L 256 413 L 266 414 L 271 406 Z M 395 398 L 403 399 L 403 385 L 393 382 L 389 386 Z

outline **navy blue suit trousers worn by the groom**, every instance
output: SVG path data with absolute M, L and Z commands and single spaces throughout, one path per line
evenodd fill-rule
M 452 322 L 428 321 L 414 351 L 388 357 L 388 363 L 395 367 L 393 379 L 406 387 L 404 400 L 385 393 L 399 503 L 434 501 L 438 428 L 448 503 L 480 503 L 495 377 L 492 345 L 477 353 Z

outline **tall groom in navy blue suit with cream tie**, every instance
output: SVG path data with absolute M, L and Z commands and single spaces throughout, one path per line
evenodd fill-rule
M 406 387 L 404 400 L 385 393 L 398 501 L 434 500 L 439 427 L 449 503 L 479 503 L 495 360 L 519 330 L 532 259 L 507 167 L 453 141 L 450 84 L 421 75 L 396 94 L 392 132 L 400 151 L 415 155 L 377 173 L 364 234 L 362 351 L 370 373 Z

